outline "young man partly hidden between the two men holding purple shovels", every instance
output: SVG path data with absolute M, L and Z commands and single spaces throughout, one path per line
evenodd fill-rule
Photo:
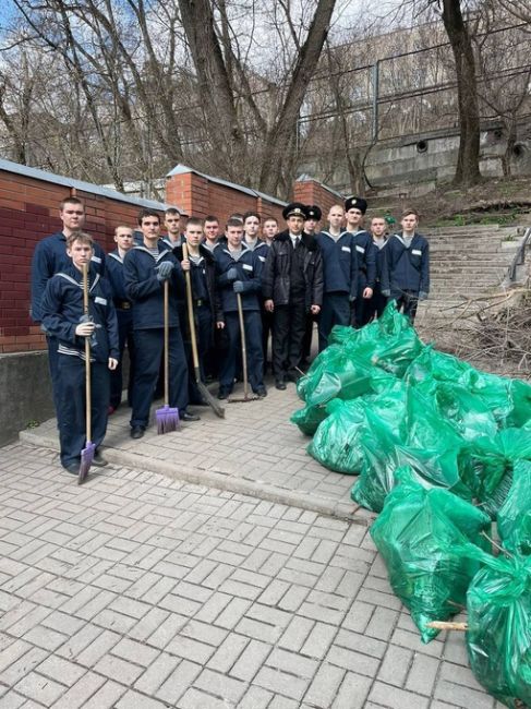
M 113 413 L 122 400 L 123 377 L 122 360 L 125 345 L 129 354 L 128 404 L 131 406 L 131 389 L 134 378 L 134 337 L 133 337 L 133 303 L 125 292 L 123 280 L 123 260 L 134 245 L 133 229 L 121 225 L 114 229 L 117 248 L 107 254 L 107 279 L 109 280 L 112 299 L 118 317 L 119 359 L 118 366 L 110 376 L 109 413 Z

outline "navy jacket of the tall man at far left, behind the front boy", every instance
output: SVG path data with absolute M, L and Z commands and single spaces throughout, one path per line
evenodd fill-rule
M 105 275 L 105 253 L 101 247 L 94 244 L 93 263 L 100 276 Z M 72 265 L 67 253 L 67 237 L 62 231 L 46 237 L 35 247 L 32 260 L 32 320 L 40 323 L 43 311 L 40 301 L 48 280 L 60 271 Z

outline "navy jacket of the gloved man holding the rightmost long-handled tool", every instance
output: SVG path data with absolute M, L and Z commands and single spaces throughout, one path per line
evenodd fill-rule
M 219 244 L 214 250 L 217 284 L 224 313 L 238 310 L 238 301 L 232 288 L 233 281 L 227 278 L 227 272 L 230 268 L 236 268 L 238 272 L 237 280 L 243 280 L 244 283 L 245 290 L 241 293 L 243 310 L 261 310 L 262 261 L 256 252 L 248 249 L 243 242 L 242 250 L 243 253 L 238 261 L 232 257 L 227 244 Z

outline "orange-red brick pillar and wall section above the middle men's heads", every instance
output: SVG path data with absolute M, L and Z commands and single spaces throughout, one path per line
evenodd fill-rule
M 173 175 L 166 181 L 166 201 L 182 205 L 191 216 L 204 218 L 212 214 L 225 225 L 231 214 L 255 209 L 263 219 L 276 217 L 282 229 L 282 206 L 266 197 L 249 194 L 238 187 L 221 184 L 194 171 Z

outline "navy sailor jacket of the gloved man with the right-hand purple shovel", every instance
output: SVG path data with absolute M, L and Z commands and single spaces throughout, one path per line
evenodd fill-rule
M 125 293 L 133 301 L 133 329 L 164 327 L 164 284 L 157 278 L 156 267 L 164 261 L 173 264 L 169 279 L 169 326 L 179 327 L 178 301 L 184 295 L 181 264 L 160 240 L 155 257 L 145 247 L 134 247 L 123 260 Z

